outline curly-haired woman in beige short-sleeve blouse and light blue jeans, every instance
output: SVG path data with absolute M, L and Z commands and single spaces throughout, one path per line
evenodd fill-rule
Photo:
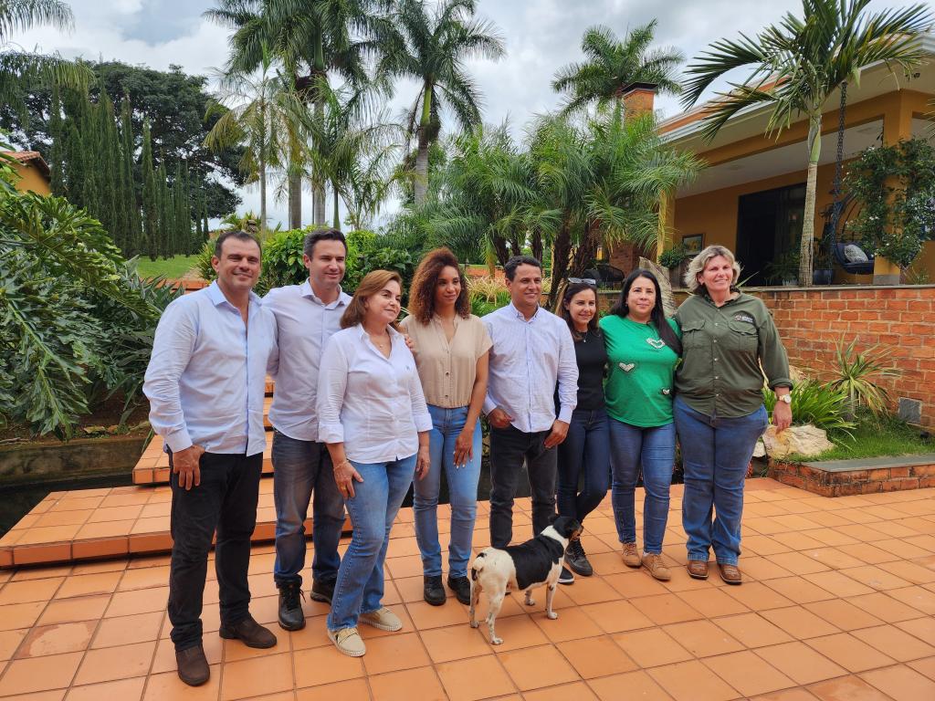
M 448 546 L 448 586 L 462 604 L 470 603 L 468 558 L 481 476 L 481 416 L 487 392 L 490 336 L 470 313 L 468 287 L 451 250 L 429 251 L 415 271 L 410 316 L 401 324 L 410 336 L 419 378 L 432 416 L 431 467 L 415 483 L 415 535 L 422 552 L 424 599 L 445 603 L 441 586 L 439 486 L 441 469 L 452 508 Z

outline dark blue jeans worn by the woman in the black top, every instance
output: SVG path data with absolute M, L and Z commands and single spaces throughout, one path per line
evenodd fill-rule
M 611 444 L 607 410 L 575 409 L 568 436 L 558 446 L 558 515 L 579 523 L 607 495 L 611 484 Z M 583 475 L 582 491 L 578 482 Z

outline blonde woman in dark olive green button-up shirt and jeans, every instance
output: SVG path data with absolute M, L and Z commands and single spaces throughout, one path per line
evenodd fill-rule
M 688 264 L 692 293 L 675 313 L 683 363 L 675 380 L 675 427 L 682 445 L 682 525 L 688 574 L 708 579 L 714 550 L 721 579 L 740 584 L 743 484 L 756 439 L 768 425 L 763 375 L 781 401 L 780 431 L 792 422 L 789 361 L 770 311 L 736 287 L 741 266 L 723 246 L 709 246 Z M 713 519 L 712 519 L 713 516 Z

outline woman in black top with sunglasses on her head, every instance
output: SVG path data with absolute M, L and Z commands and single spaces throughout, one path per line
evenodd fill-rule
M 611 482 L 610 436 L 604 408 L 604 365 L 607 351 L 597 328 L 597 289 L 587 282 L 568 284 L 562 297 L 562 318 L 575 340 L 578 362 L 578 406 L 568 424 L 568 436 L 558 446 L 558 486 L 555 491 L 559 516 L 580 523 L 604 499 Z M 579 478 L 583 488 L 578 492 Z M 568 543 L 565 562 L 576 574 L 590 577 L 580 540 Z M 574 576 L 565 567 L 558 579 L 571 584 Z

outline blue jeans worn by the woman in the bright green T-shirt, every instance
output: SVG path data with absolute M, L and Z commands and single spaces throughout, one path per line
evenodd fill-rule
M 637 541 L 635 496 L 642 472 L 643 551 L 662 552 L 669 519 L 669 485 L 675 465 L 675 425 L 643 428 L 611 419 L 611 503 L 621 543 Z

